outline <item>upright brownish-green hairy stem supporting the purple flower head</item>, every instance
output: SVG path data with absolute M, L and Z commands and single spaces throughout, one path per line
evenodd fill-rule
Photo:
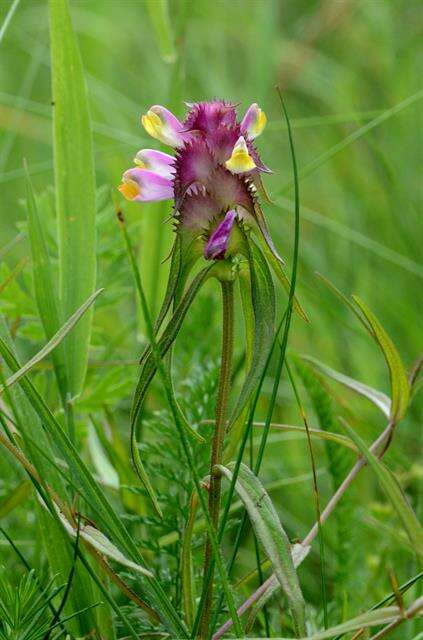
M 231 385 L 231 368 L 234 339 L 234 290 L 232 282 L 222 282 L 222 359 L 220 364 L 219 389 L 216 402 L 216 422 L 213 433 L 212 449 L 210 456 L 210 490 L 209 490 L 209 514 L 214 530 L 217 532 L 219 524 L 220 496 L 222 478 L 214 473 L 214 467 L 222 464 L 223 441 L 225 438 L 226 415 L 228 408 L 229 391 Z M 210 625 L 211 608 L 213 601 L 213 573 L 212 546 L 210 537 L 207 537 L 204 552 L 204 571 L 206 578 L 211 569 L 208 584 L 204 582 L 205 593 L 204 608 L 201 612 L 199 637 L 206 639 Z

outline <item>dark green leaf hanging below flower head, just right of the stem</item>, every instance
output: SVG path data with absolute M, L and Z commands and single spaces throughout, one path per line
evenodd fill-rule
M 254 313 L 254 341 L 251 365 L 229 418 L 232 427 L 260 380 L 273 343 L 275 328 L 275 290 L 267 262 L 258 246 L 244 234 L 245 250 L 251 279 L 251 297 Z

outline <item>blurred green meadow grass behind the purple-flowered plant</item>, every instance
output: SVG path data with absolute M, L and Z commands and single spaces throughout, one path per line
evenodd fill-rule
M 295 318 L 291 352 L 307 353 L 358 380 L 388 390 L 386 367 L 379 352 L 354 317 L 319 282 L 316 271 L 345 293 L 357 293 L 366 301 L 392 336 L 407 367 L 412 366 L 421 348 L 421 2 L 171 0 L 164 19 L 157 14 L 159 5 L 166 6 L 161 0 L 71 2 L 93 120 L 99 187 L 98 285 L 105 287 L 95 309 L 89 371 L 78 403 L 78 433 L 82 449 L 94 459 L 100 475 L 109 479 L 112 471 L 101 467 L 105 456 L 96 455 L 98 441 L 92 424 L 111 423 L 113 415 L 123 451 L 127 450 L 128 410 L 144 342 L 110 191 L 115 190 L 136 151 L 154 146 L 140 126 L 140 115 L 151 104 L 168 106 L 182 117 L 184 101 L 224 98 L 238 103 L 240 112 L 251 102 L 259 103 L 267 114 L 268 126 L 258 145 L 263 160 L 274 172 L 266 178 L 273 202 L 265 204 L 264 210 L 279 252 L 290 266 L 293 188 L 286 126 L 274 89 L 279 85 L 294 127 L 301 176 L 297 293 L 310 318 L 309 324 Z M 0 23 L 9 7 L 5 0 L 0 3 Z M 23 158 L 40 194 L 39 206 L 49 229 L 53 256 L 56 251 L 51 186 L 54 107 L 44 2 L 21 1 L 0 50 L 0 305 L 24 361 L 40 348 L 44 337 L 33 300 L 25 236 Z M 389 110 L 397 105 L 401 106 L 391 114 Z M 363 130 L 369 123 L 375 126 Z M 126 205 L 125 212 L 139 248 L 149 302 L 157 312 L 168 271 L 168 263 L 163 260 L 173 239 L 171 225 L 164 223 L 170 206 Z M 210 417 L 213 408 L 220 339 L 216 289 L 209 286 L 202 292 L 176 349 L 178 391 L 187 410 L 196 415 L 193 419 Z M 279 292 L 280 314 L 285 299 Z M 239 322 L 238 357 L 242 355 L 242 339 Z M 34 379 L 50 405 L 55 406 L 57 393 L 48 363 L 40 366 Z M 260 405 L 263 414 L 272 383 L 270 370 Z M 159 385 L 155 389 L 149 398 L 153 422 L 157 422 L 154 411 L 163 408 Z M 357 430 L 367 441 L 373 440 L 382 426 L 377 411 L 334 384 L 330 389 L 334 415 L 348 405 Z M 303 389 L 310 422 L 316 426 L 317 418 L 307 397 Z M 300 424 L 285 376 L 274 417 Z M 420 515 L 421 417 L 417 398 L 387 456 Z M 145 431 L 154 460 L 160 454 L 161 433 L 157 424 L 150 426 L 146 425 Z M 331 470 L 325 448 L 319 443 L 315 447 L 324 502 L 331 493 Z M 292 434 L 271 436 L 263 478 L 281 481 L 272 497 L 291 539 L 301 538 L 314 520 L 310 477 L 294 480 L 293 486 L 290 482 L 309 471 L 303 438 Z M 133 478 L 123 478 L 125 473 L 121 472 L 120 480 L 130 484 Z M 166 472 L 162 477 L 166 478 Z M 6 500 L 18 480 L 13 464 L 2 464 L 0 497 Z M 166 478 L 162 491 L 168 486 L 173 491 L 171 484 L 171 478 Z M 338 585 L 345 596 L 345 607 L 355 613 L 390 591 L 387 566 L 394 569 L 400 583 L 416 568 L 395 516 L 369 471 L 357 480 L 346 500 L 349 526 L 345 558 L 351 562 L 339 582 L 339 562 L 331 552 L 336 536 L 332 520 L 325 527 L 329 548 L 326 560 L 330 596 Z M 130 512 L 134 494 L 125 495 L 123 491 L 123 504 Z M 32 530 L 33 517 L 28 504 L 25 509 L 6 510 L 4 514 L 0 505 L 0 518 L 4 518 L 9 531 L 15 532 L 28 556 L 42 564 Z M 1 545 L 3 558 L 5 546 L 3 542 Z M 12 563 L 9 552 L 7 557 Z M 240 558 L 238 573 L 242 575 L 254 565 L 252 551 Z M 301 568 L 300 576 L 308 601 L 319 610 L 317 552 Z M 333 622 L 340 617 L 337 608 Z

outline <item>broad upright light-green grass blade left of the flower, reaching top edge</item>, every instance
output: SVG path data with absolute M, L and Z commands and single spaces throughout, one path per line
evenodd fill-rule
M 66 318 L 95 287 L 95 176 L 87 90 L 68 2 L 49 0 L 49 8 L 60 311 Z M 91 316 L 87 313 L 64 342 L 72 396 L 85 378 Z

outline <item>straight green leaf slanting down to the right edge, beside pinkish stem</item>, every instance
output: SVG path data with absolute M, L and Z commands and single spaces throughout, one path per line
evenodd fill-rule
M 355 433 L 354 429 L 352 429 L 345 420 L 342 420 L 342 423 L 351 440 L 355 442 L 361 454 L 375 472 L 380 486 L 385 492 L 386 497 L 391 501 L 417 557 L 420 562 L 423 562 L 423 527 L 405 497 L 398 480 L 383 462 L 378 460 L 378 458 L 369 451 L 366 444 L 360 436 Z

